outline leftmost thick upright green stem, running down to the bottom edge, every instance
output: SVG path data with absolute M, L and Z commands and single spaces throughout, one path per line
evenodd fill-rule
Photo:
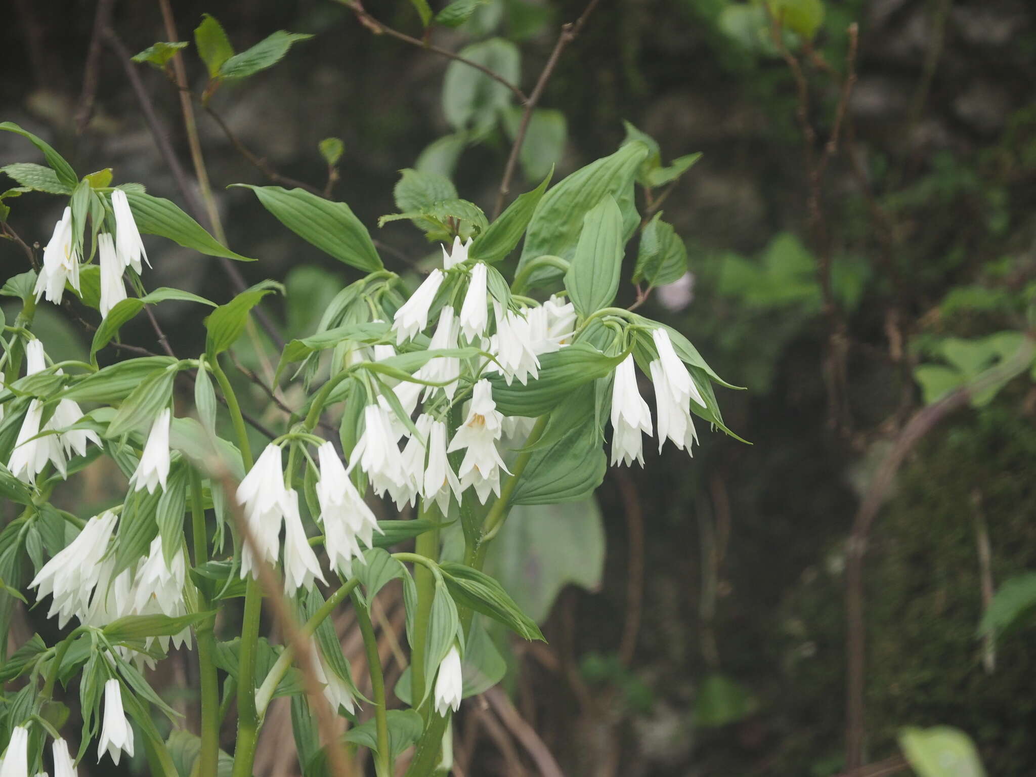
M 191 474 L 191 520 L 195 566 L 208 560 L 208 535 L 205 528 L 205 505 L 201 493 L 201 476 L 194 468 Z M 198 593 L 202 610 L 209 608 L 208 597 Z M 195 628 L 198 640 L 198 674 L 201 685 L 201 749 L 196 769 L 199 777 L 215 777 L 220 765 L 220 680 L 215 670 L 215 635 L 212 621 Z

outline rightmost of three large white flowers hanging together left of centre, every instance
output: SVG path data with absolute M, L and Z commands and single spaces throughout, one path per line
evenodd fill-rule
M 352 559 L 364 560 L 363 548 L 357 540 L 370 548 L 374 544 L 374 531 L 384 533 L 346 473 L 335 445 L 321 443 L 317 456 L 320 480 L 317 481 L 316 491 L 324 527 L 324 548 L 332 567 L 351 577 Z

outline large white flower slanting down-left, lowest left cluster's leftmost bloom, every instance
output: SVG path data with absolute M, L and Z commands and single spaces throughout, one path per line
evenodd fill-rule
M 108 552 L 108 543 L 117 520 L 110 511 L 88 520 L 76 539 L 45 564 L 29 583 L 30 588 L 39 588 L 36 592 L 37 601 L 47 596 L 54 597 L 47 616 L 57 614 L 59 628 L 63 629 L 73 615 L 80 621 L 85 620 L 90 594 L 100 577 L 102 559 Z

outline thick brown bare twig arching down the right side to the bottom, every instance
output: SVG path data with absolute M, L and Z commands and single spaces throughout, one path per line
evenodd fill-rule
M 1027 338 L 1018 351 L 1002 366 L 984 373 L 972 383 L 961 386 L 918 410 L 903 427 L 895 444 L 874 472 L 863 501 L 853 521 L 845 554 L 845 615 L 846 634 L 846 709 L 845 766 L 848 777 L 864 777 L 864 677 L 866 671 L 866 627 L 864 623 L 863 557 L 867 551 L 870 527 L 889 493 L 892 481 L 914 447 L 955 410 L 990 385 L 1010 379 L 1023 372 L 1032 359 L 1036 343 Z

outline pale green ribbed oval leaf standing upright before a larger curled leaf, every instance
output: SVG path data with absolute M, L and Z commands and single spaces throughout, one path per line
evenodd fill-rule
M 611 195 L 605 195 L 583 217 L 575 257 L 565 274 L 565 288 L 582 318 L 614 301 L 623 247 L 623 214 Z

